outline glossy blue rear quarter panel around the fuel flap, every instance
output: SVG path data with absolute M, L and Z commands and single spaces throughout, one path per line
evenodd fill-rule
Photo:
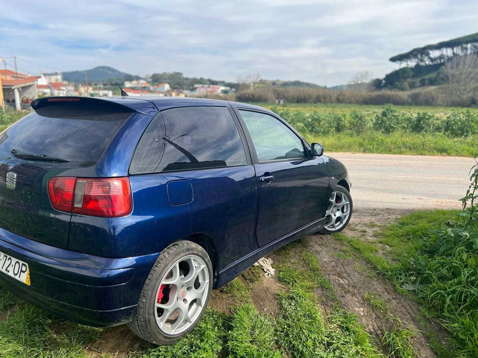
M 186 180 L 191 202 L 173 205 L 167 184 Z M 253 166 L 130 176 L 133 211 L 123 218 L 73 215 L 70 250 L 103 257 L 159 253 L 188 235 L 209 236 L 218 268 L 258 248 L 257 188 Z M 188 200 L 186 200 L 188 201 Z

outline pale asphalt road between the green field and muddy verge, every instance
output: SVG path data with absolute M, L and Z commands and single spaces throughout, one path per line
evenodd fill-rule
M 460 208 L 473 158 L 329 153 L 348 168 L 355 208 Z

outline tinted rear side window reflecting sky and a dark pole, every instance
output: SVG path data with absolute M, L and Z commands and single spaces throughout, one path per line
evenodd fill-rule
M 247 164 L 239 131 L 226 107 L 168 109 L 156 116 L 133 156 L 130 174 Z

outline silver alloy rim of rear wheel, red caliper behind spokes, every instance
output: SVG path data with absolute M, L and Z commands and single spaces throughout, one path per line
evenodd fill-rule
M 173 263 L 156 293 L 159 329 L 173 336 L 192 326 L 204 308 L 208 291 L 209 272 L 201 257 L 191 254 Z

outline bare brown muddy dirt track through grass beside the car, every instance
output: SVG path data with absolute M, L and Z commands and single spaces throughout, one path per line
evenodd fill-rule
M 380 225 L 390 224 L 397 217 L 409 212 L 396 209 L 359 209 L 354 211 L 343 233 L 349 237 L 360 236 L 364 241 L 375 241 L 373 232 L 380 230 Z M 376 229 L 370 227 L 371 225 Z M 427 338 L 421 333 L 423 328 L 416 319 L 420 311 L 415 302 L 398 294 L 390 282 L 377 277 L 364 261 L 356 257 L 347 257 L 341 250 L 342 243 L 331 236 L 308 236 L 305 247 L 319 259 L 324 273 L 342 302 L 342 307 L 348 312 L 355 313 L 369 333 L 381 337 L 384 328 L 390 329 L 392 326 L 387 314 L 375 312 L 365 301 L 366 293 L 374 293 L 384 298 L 390 315 L 398 316 L 405 327 L 417 333 L 417 337 L 413 338 L 413 346 L 419 352 L 419 357 L 435 357 Z

